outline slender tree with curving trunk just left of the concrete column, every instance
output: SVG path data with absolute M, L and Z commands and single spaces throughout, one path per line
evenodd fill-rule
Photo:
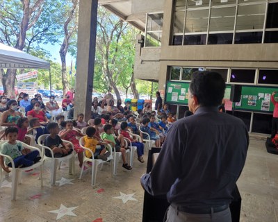
M 63 17 L 66 17 L 64 27 L 64 40 L 60 46 L 60 59 L 62 62 L 62 83 L 63 83 L 63 92 L 66 93 L 69 88 L 69 80 L 67 80 L 67 64 L 66 64 L 66 56 L 67 51 L 71 44 L 74 44 L 76 41 L 76 31 L 78 26 L 77 19 L 77 3 L 78 0 L 71 0 L 69 3 L 65 4 L 65 14 Z M 75 40 L 75 41 L 72 41 Z

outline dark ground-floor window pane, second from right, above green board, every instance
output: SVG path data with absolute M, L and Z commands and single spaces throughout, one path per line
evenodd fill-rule
M 254 83 L 255 69 L 231 69 L 231 83 Z

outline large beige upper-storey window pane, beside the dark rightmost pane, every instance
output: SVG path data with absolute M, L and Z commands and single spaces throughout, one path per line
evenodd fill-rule
M 265 4 L 238 6 L 236 30 L 261 29 L 265 18 Z

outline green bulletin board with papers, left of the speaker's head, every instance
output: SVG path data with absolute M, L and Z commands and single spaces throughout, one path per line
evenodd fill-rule
M 168 81 L 166 85 L 166 102 L 187 105 L 189 84 Z

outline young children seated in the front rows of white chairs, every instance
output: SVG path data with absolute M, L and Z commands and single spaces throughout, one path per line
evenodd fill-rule
M 144 144 L 136 141 L 136 139 L 134 139 L 136 137 L 129 134 L 129 129 L 133 134 L 139 135 L 142 139 L 154 140 L 155 146 L 161 147 L 167 133 L 166 124 L 174 121 L 174 117 L 170 112 L 168 116 L 166 113 L 161 112 L 161 121 L 159 123 L 156 123 L 155 112 L 153 114 L 147 113 L 142 115 L 142 110 L 138 110 L 138 113 L 138 119 L 142 119 L 140 130 L 149 134 L 150 138 L 148 138 L 146 134 L 140 133 L 136 125 L 135 117 L 133 117 L 130 111 L 127 111 L 124 117 L 127 119 L 127 122 L 123 121 L 120 126 L 117 124 L 117 119 L 113 119 L 113 115 L 107 113 L 104 114 L 102 118 L 97 117 L 95 119 L 90 119 L 90 121 L 88 121 L 89 124 L 83 121 L 83 114 L 79 114 L 76 121 L 64 121 L 65 118 L 63 115 L 58 115 L 56 117 L 58 123 L 50 122 L 45 128 L 41 126 L 38 118 L 28 120 L 26 117 L 21 117 L 18 119 L 16 127 L 8 127 L 5 134 L 2 135 L 2 137 L 6 136 L 8 139 L 8 142 L 4 144 L 5 146 L 3 145 L 2 153 L 11 155 L 13 159 L 18 159 L 16 160 L 17 167 L 21 165 L 29 166 L 31 163 L 38 161 L 38 153 L 35 153 L 35 151 L 31 152 L 32 154 L 26 153 L 26 150 L 23 149 L 21 144 L 16 140 L 30 144 L 26 134 L 30 133 L 33 135 L 35 137 L 35 142 L 37 142 L 40 135 L 49 133 L 50 135 L 46 137 L 44 145 L 51 149 L 54 157 L 63 157 L 72 153 L 74 150 L 78 155 L 79 167 L 82 167 L 83 148 L 79 145 L 78 137 L 83 137 L 84 146 L 94 153 L 95 158 L 104 161 L 108 160 L 111 153 L 107 151 L 107 144 L 110 144 L 113 150 L 122 153 L 122 167 L 131 170 L 132 167 L 126 161 L 126 149 L 129 149 L 130 145 L 126 146 L 124 139 L 127 139 L 127 141 L 129 140 L 131 146 L 137 147 L 138 161 L 142 163 L 144 162 Z M 84 130 L 84 135 L 81 133 L 81 129 L 85 127 L 86 130 Z M 63 142 L 62 139 L 72 142 L 74 147 L 70 147 L 69 144 Z M 127 144 L 129 144 L 129 142 L 127 142 Z M 45 150 L 45 155 L 48 157 L 51 157 L 50 149 Z M 92 158 L 92 153 L 86 151 L 85 155 L 88 158 Z M 3 158 L 1 159 L 1 167 L 3 167 L 5 171 L 8 171 L 3 165 Z M 9 164 L 9 162 L 6 162 L 6 164 Z M 85 168 L 86 167 L 84 167 L 84 169 Z

